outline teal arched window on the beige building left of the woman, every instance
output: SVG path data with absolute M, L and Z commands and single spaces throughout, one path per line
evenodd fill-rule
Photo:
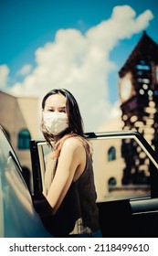
M 18 133 L 18 149 L 29 149 L 30 133 L 23 129 Z

